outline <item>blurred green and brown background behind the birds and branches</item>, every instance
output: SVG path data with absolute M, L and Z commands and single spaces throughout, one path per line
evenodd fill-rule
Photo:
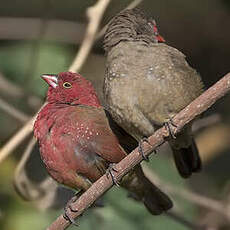
M 39 76 L 68 70 L 84 37 L 87 26 L 86 9 L 95 2 L 1 2 L 0 148 L 42 105 L 47 86 Z M 100 27 L 130 2 L 111 1 Z M 140 6 L 156 19 L 159 31 L 168 44 L 186 54 L 187 60 L 201 74 L 207 87 L 230 70 L 229 0 L 144 0 Z M 102 39 L 99 39 L 95 42 L 81 74 L 93 82 L 102 102 L 104 64 Z M 195 133 L 204 161 L 202 173 L 189 180 L 181 179 L 166 151 L 167 147 L 162 150 L 165 154 L 151 157 L 148 163 L 165 183 L 220 200 L 226 204 L 226 212 L 230 210 L 227 209 L 230 198 L 229 99 L 229 96 L 225 97 L 206 112 L 206 116 L 217 116 L 217 121 L 199 128 Z M 20 116 L 7 112 L 5 103 L 21 111 Z M 12 183 L 15 168 L 29 139 L 23 141 L 0 163 L 0 230 L 45 229 L 63 212 L 61 207 L 66 201 L 63 197 L 72 195 L 59 188 L 61 195 L 48 199 L 50 205 L 39 205 L 41 197 L 34 201 L 24 201 L 16 193 Z M 35 186 L 39 186 L 46 176 L 36 148 L 26 171 Z M 174 210 L 193 223 L 210 225 L 213 229 L 230 229 L 229 220 L 223 216 L 175 194 L 170 196 L 175 201 Z M 54 205 L 54 201 L 58 199 L 62 202 Z M 103 203 L 105 207 L 90 209 L 79 218 L 80 229 L 189 229 L 167 215 L 151 216 L 142 204 L 127 198 L 126 192 L 121 188 L 114 187 L 107 192 Z M 74 228 L 76 227 L 71 227 Z

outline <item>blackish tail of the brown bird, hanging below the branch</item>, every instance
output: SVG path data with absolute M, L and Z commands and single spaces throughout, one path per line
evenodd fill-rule
M 182 177 L 188 178 L 193 172 L 199 172 L 201 170 L 201 159 L 193 139 L 188 148 L 176 149 L 172 146 L 172 151 L 176 167 Z

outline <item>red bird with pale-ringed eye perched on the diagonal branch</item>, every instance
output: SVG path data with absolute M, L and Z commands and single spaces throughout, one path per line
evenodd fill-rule
M 41 158 L 56 181 L 85 191 L 126 152 L 89 81 L 71 72 L 42 78 L 49 84 L 48 103 L 34 124 Z M 168 196 L 144 176 L 140 166 L 122 179 L 121 186 L 143 201 L 153 215 L 172 207 Z

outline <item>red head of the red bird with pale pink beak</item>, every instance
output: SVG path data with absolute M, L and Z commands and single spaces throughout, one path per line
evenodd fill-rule
M 49 103 L 101 106 L 92 84 L 80 74 L 62 72 L 57 75 L 44 74 L 41 77 L 49 84 Z

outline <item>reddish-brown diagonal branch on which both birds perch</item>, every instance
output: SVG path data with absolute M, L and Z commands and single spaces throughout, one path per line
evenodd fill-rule
M 174 125 L 171 127 L 171 129 L 174 134 L 178 134 L 186 124 L 206 111 L 218 99 L 223 97 L 229 91 L 230 73 L 225 75 L 215 85 L 196 98 L 172 119 L 172 123 Z M 151 137 L 148 138 L 151 147 L 149 144 L 143 143 L 143 151 L 145 156 L 147 157 L 150 155 L 154 149 L 163 144 L 168 138 L 169 132 L 166 127 L 158 129 Z M 139 153 L 138 148 L 136 148 L 134 151 L 132 151 L 132 153 L 116 164 L 116 172 L 114 172 L 115 180 L 119 181 L 135 165 L 139 164 L 142 159 L 142 155 Z M 107 175 L 102 176 L 85 193 L 83 193 L 76 202 L 72 204 L 72 208 L 78 211 L 72 212 L 70 216 L 72 218 L 76 218 L 77 216 L 81 215 L 85 209 L 90 207 L 90 205 L 92 205 L 103 193 L 111 188 L 112 185 L 113 182 L 111 178 L 108 178 Z M 61 215 L 50 225 L 50 227 L 47 228 L 47 230 L 63 230 L 69 225 L 70 222 L 68 222 Z

